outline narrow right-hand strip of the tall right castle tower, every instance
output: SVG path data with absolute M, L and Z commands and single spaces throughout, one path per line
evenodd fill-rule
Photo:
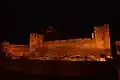
M 109 24 L 104 24 L 104 46 L 106 49 L 110 49 Z

